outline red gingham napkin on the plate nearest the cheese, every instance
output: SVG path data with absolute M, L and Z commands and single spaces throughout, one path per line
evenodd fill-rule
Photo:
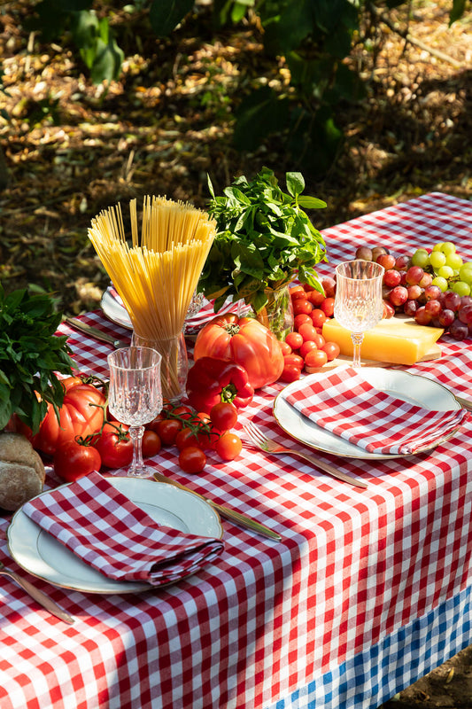
M 307 384 L 287 401 L 314 424 L 369 453 L 409 455 L 433 447 L 470 416 L 465 409 L 430 411 L 368 384 L 352 367 Z

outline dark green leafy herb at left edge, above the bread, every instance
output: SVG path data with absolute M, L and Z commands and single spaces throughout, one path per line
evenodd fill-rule
M 54 334 L 60 322 L 47 294 L 5 295 L 0 284 L 0 431 L 16 413 L 37 432 L 48 401 L 58 412 L 64 389 L 56 373 L 72 374 L 74 366 L 66 335 Z

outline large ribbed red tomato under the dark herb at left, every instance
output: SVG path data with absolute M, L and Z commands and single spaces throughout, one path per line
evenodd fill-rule
M 99 431 L 104 420 L 101 407 L 105 403 L 104 393 L 95 386 L 66 382 L 59 422 L 52 405 L 48 404 L 39 432 L 32 439 L 33 446 L 52 456 L 59 446 L 74 440 L 75 436 L 84 437 Z

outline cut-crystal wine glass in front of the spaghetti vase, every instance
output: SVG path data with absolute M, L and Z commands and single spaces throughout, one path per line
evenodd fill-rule
M 152 421 L 162 409 L 161 355 L 150 347 L 124 347 L 107 359 L 108 409 L 118 421 L 129 425 L 133 441 L 133 461 L 127 475 L 147 478 L 152 471 L 143 462 L 143 424 Z

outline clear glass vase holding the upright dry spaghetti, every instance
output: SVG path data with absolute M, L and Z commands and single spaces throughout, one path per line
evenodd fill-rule
M 150 339 L 133 332 L 134 347 L 151 347 L 162 357 L 160 363 L 160 380 L 162 395 L 168 401 L 180 401 L 185 395 L 189 359 L 183 331 L 170 339 Z

